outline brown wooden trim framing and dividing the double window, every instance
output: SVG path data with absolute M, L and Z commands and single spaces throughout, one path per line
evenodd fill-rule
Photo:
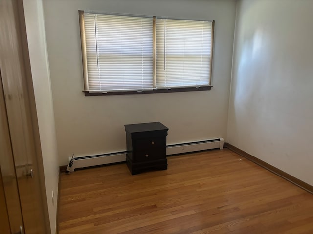
M 125 91 L 102 91 L 102 90 L 89 90 L 88 81 L 88 69 L 87 69 L 87 48 L 86 48 L 86 36 L 85 36 L 85 23 L 84 23 L 84 12 L 83 10 L 78 11 L 79 15 L 79 26 L 80 26 L 80 37 L 81 37 L 81 50 L 82 50 L 82 63 L 83 63 L 83 77 L 84 77 L 84 90 L 82 91 L 85 96 L 102 96 L 102 95 L 122 95 L 122 94 L 152 94 L 152 93 L 173 93 L 173 92 L 188 92 L 188 91 L 203 91 L 211 90 L 212 83 L 212 67 L 213 67 L 213 48 L 214 48 L 214 24 L 215 20 L 196 20 L 196 21 L 209 21 L 212 22 L 211 29 L 211 55 L 210 55 L 210 80 L 208 85 L 203 86 L 192 86 L 192 87 L 173 87 L 167 89 L 147 89 L 147 90 L 125 90 Z M 121 15 L 121 16 L 138 16 L 138 15 L 126 15 L 126 14 L 112 14 L 112 13 L 96 13 L 94 14 L 107 14 L 107 15 Z M 140 16 L 150 17 L 150 16 Z M 156 18 L 159 19 L 174 19 L 174 20 L 190 20 L 190 19 L 179 19 L 179 18 L 167 18 L 167 17 L 156 17 L 153 16 L 153 87 L 156 85 Z

